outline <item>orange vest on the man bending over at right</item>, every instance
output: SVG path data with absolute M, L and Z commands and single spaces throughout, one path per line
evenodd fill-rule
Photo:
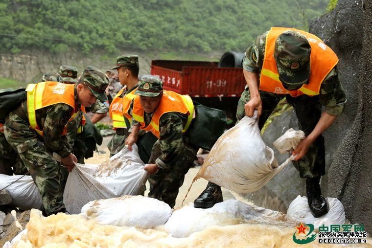
M 283 87 L 279 80 L 277 63 L 274 59 L 275 41 L 280 34 L 287 30 L 301 33 L 311 46 L 309 83 L 302 85 L 298 90 L 286 90 Z M 272 27 L 266 36 L 265 57 L 261 69 L 259 90 L 277 94 L 290 94 L 293 97 L 302 94 L 319 95 L 323 80 L 337 63 L 337 55 L 315 35 L 295 28 Z

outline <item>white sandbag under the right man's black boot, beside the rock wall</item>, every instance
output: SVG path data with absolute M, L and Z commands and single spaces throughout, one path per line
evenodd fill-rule
M 326 225 L 344 225 L 345 224 L 345 211 L 344 206 L 337 198 L 326 198 L 329 211 L 325 215 L 315 218 L 307 204 L 307 198 L 298 196 L 289 205 L 287 210 L 288 218 L 302 223 L 313 224 L 315 228 Z

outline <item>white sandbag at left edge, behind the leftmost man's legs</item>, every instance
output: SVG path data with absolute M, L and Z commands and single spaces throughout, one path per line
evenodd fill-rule
M 11 184 L 12 182 L 13 184 Z M 18 208 L 30 210 L 31 208 L 40 208 L 43 205 L 39 189 L 36 187 L 31 176 L 8 176 L 0 174 L 0 189 L 7 185 L 9 186 L 6 190 L 8 190 L 12 196 L 12 204 Z

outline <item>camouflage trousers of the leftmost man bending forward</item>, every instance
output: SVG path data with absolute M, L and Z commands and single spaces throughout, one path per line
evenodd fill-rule
M 29 128 L 28 121 L 13 112 L 9 113 L 4 134 L 38 187 L 46 214 L 65 208 L 63 191 L 69 172 L 52 158 L 40 136 Z

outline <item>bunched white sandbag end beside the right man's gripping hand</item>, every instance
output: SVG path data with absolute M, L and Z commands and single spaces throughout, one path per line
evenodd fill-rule
M 305 138 L 305 133 L 301 130 L 290 128 L 273 142 L 280 154 L 288 153 L 297 148 L 300 141 Z

